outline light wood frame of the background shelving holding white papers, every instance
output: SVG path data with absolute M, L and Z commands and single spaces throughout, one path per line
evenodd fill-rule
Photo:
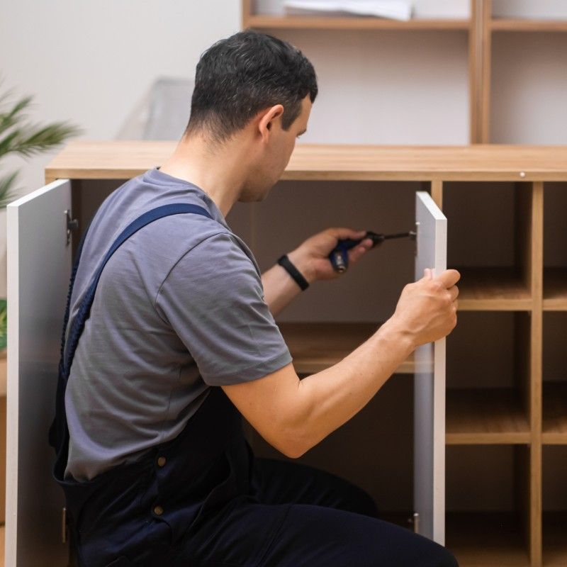
M 522 6 L 514 6 L 523 4 Z M 372 17 L 337 17 L 312 15 L 288 15 L 283 9 L 281 0 L 242 0 L 242 28 L 253 28 L 278 36 L 290 30 L 344 30 L 411 33 L 430 31 L 432 33 L 461 32 L 468 40 L 468 115 L 469 141 L 471 143 L 487 143 L 498 140 L 494 136 L 491 122 L 491 106 L 496 100 L 493 94 L 493 60 L 498 57 L 498 46 L 493 41 L 494 35 L 510 33 L 559 33 L 567 31 L 566 12 L 561 6 L 555 6 L 555 19 L 545 18 L 546 8 L 553 10 L 553 3 L 531 2 L 527 16 L 512 16 L 526 13 L 526 2 L 510 2 L 507 0 L 470 0 L 468 18 L 413 18 L 410 21 L 395 21 Z M 541 4 L 542 6 L 539 6 Z M 561 4 L 557 2 L 556 4 Z M 547 6 L 546 6 L 547 5 Z M 451 10 L 451 8 L 449 8 Z M 534 17 L 532 14 L 542 15 Z M 299 45 L 301 47 L 301 45 Z M 330 44 L 336 49 L 336 43 Z M 549 62 L 544 62 L 549 64 Z M 442 61 L 439 61 L 442 64 Z M 508 64 L 517 64 L 517 60 Z M 369 63 L 371 69 L 371 63 Z M 340 71 L 338 71 L 340 72 Z M 498 79 L 498 77 L 495 77 Z M 507 92 L 507 96 L 515 96 L 515 92 Z M 502 105 L 499 105 L 500 110 Z M 561 112 L 561 108 L 557 109 Z M 517 116 L 516 120 L 524 117 Z M 512 141 L 512 140 L 510 140 Z

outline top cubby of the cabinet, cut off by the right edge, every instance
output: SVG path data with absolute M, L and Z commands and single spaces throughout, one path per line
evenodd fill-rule
M 544 310 L 567 310 L 567 184 L 544 187 Z

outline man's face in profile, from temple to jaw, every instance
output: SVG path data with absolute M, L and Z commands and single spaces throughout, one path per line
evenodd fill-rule
M 288 130 L 281 128 L 281 120 L 274 120 L 269 142 L 247 180 L 240 201 L 262 201 L 266 198 L 286 169 L 297 138 L 307 130 L 310 112 L 311 101 L 309 96 L 305 96 L 301 101 L 301 112 Z

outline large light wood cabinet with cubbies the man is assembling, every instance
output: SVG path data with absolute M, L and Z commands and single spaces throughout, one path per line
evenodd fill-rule
M 108 193 L 159 165 L 173 150 L 173 142 L 73 142 L 48 165 L 46 182 L 70 180 L 55 185 L 67 187 L 73 216 L 84 228 Z M 265 268 L 292 242 L 298 244 L 300 229 L 309 235 L 319 225 L 343 218 L 333 208 L 347 209 L 348 218 L 364 218 L 360 228 L 373 230 L 410 229 L 415 193 L 420 191 L 430 192 L 442 208 L 447 264 L 459 267 L 463 277 L 459 325 L 447 338 L 447 387 L 437 392 L 439 399 L 447 397 L 446 407 L 437 404 L 446 412 L 446 447 L 437 456 L 430 449 L 426 454 L 441 463 L 437 471 L 446 486 L 439 489 L 441 510 L 439 503 L 432 505 L 432 510 L 438 508 L 434 522 L 446 524 L 445 543 L 463 567 L 536 567 L 542 558 L 549 565 L 567 563 L 561 468 L 567 452 L 566 164 L 567 147 L 300 145 L 266 203 L 236 207 L 235 217 L 228 218 Z M 44 225 L 46 215 L 47 208 L 41 215 Z M 61 234 L 49 241 L 66 237 L 62 210 L 59 215 L 56 231 Z M 34 231 L 43 230 L 41 223 L 31 224 Z M 319 291 L 313 286 L 298 298 L 303 303 L 297 310 L 279 319 L 299 373 L 310 374 L 342 359 L 374 332 L 383 313 L 393 310 L 400 292 L 396 257 L 403 264 L 402 283 L 415 276 L 413 243 L 399 246 L 371 252 L 382 255 L 365 260 L 367 267 L 353 269 L 344 281 L 322 283 Z M 67 265 L 70 249 L 61 249 L 67 252 L 47 264 Z M 41 248 L 38 254 L 52 252 Z M 40 265 L 40 259 L 31 262 L 32 271 Z M 57 295 L 58 306 L 66 293 L 67 268 L 56 269 L 50 279 L 48 267 L 40 283 Z M 12 274 L 13 264 L 11 268 Z M 20 266 L 18 274 L 22 270 Z M 373 289 L 381 291 L 378 297 Z M 332 301 L 318 303 L 318 293 L 325 302 Z M 45 296 L 34 301 L 33 309 L 46 303 Z M 387 305 L 378 318 L 375 306 L 383 303 Z M 330 304 L 332 308 L 321 307 Z M 52 335 L 47 351 L 28 344 L 30 352 L 42 353 L 44 364 L 49 361 L 51 372 L 58 352 L 56 326 L 53 332 L 49 325 L 43 327 L 42 332 Z M 383 517 L 408 527 L 414 490 L 420 490 L 414 464 L 415 476 L 429 478 L 425 485 L 433 486 L 430 473 L 420 468 L 420 456 L 413 454 L 414 445 L 425 447 L 425 442 L 415 442 L 420 438 L 414 432 L 420 425 L 414 417 L 419 388 L 412 384 L 412 376 L 419 374 L 417 363 L 413 357 L 403 364 L 359 415 L 302 458 L 359 483 L 378 500 Z M 9 374 L 16 376 L 17 371 L 9 367 Z M 50 410 L 42 417 L 45 423 Z M 17 419 L 15 411 L 9 408 L 9 430 L 10 420 Z M 259 454 L 276 456 L 262 439 L 253 437 L 252 442 Z M 9 431 L 9 456 L 14 443 Z M 9 493 L 13 482 L 9 478 Z M 10 508 L 7 512 L 9 522 Z M 51 539 L 59 536 L 57 522 Z M 8 537 L 13 545 L 13 535 Z

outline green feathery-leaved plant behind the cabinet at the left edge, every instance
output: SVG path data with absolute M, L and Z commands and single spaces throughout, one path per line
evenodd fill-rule
M 0 82 L 1 84 L 1 82 Z M 30 157 L 61 145 L 82 130 L 69 122 L 47 125 L 30 123 L 27 111 L 33 97 L 23 96 L 11 101 L 13 91 L 0 94 L 0 160 L 6 155 Z M 19 193 L 16 187 L 18 171 L 4 173 L 0 163 L 0 210 Z M 0 299 L 0 357 L 6 356 L 6 299 Z

